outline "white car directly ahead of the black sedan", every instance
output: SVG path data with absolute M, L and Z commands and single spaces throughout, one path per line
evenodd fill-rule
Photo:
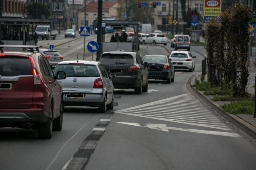
M 188 69 L 189 71 L 195 70 L 196 56 L 193 56 L 189 51 L 172 51 L 169 59 L 175 69 Z

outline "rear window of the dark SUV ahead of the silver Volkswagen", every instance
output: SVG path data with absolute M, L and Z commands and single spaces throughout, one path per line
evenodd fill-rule
M 132 64 L 133 57 L 131 55 L 102 55 L 100 62 L 113 64 Z

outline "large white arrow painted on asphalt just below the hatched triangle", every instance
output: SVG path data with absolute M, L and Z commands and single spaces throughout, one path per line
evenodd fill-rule
M 219 135 L 219 136 L 227 136 L 227 137 L 240 137 L 237 133 L 229 133 L 229 132 L 218 132 L 218 131 L 205 131 L 198 129 L 183 129 L 178 127 L 167 127 L 165 124 L 153 124 L 153 123 L 129 123 L 129 122 L 117 122 L 125 125 L 132 125 L 137 127 L 148 127 L 150 129 L 156 129 L 160 131 L 169 132 L 168 129 L 176 130 L 176 131 L 186 131 L 186 132 L 194 132 L 194 133 L 202 133 L 208 135 Z

